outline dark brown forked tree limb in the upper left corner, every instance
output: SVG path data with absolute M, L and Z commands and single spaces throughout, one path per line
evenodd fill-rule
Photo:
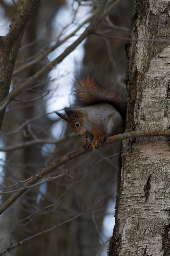
M 10 31 L 6 36 L 0 36 L 0 102 L 8 95 L 10 82 L 24 33 L 38 0 L 20 0 L 20 5 L 10 24 Z M 0 112 L 0 128 L 4 117 L 4 110 Z

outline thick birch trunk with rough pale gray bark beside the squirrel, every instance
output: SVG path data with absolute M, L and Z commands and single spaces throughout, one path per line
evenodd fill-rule
M 169 39 L 169 10 L 170 1 L 135 1 L 130 37 Z M 127 59 L 126 131 L 169 128 L 169 43 L 129 43 Z M 108 256 L 170 255 L 169 167 L 166 138 L 123 142 Z

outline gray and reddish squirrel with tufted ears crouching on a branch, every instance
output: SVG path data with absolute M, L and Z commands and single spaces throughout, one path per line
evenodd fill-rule
M 64 107 L 64 113 L 54 112 L 70 124 L 77 136 L 83 135 L 84 149 L 92 145 L 95 151 L 108 136 L 124 132 L 126 100 L 100 86 L 94 67 L 85 66 L 75 74 L 72 94 L 80 108 Z

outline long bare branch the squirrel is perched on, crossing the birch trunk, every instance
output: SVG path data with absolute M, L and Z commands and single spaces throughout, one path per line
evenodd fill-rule
M 170 137 L 170 130 L 146 130 L 146 131 L 135 131 L 135 132 L 128 132 L 123 134 L 114 135 L 111 137 L 108 137 L 107 140 L 103 144 L 99 144 L 97 148 L 111 144 L 116 141 L 125 140 L 125 139 L 131 139 L 131 138 L 140 138 L 140 137 L 152 137 L 152 136 L 164 136 L 164 137 Z M 8 198 L 2 206 L 0 206 L 0 215 L 13 203 L 19 198 L 26 190 L 27 186 L 31 186 L 35 184 L 39 179 L 44 177 L 44 175 L 50 173 L 51 171 L 57 169 L 59 166 L 66 163 L 68 160 L 74 159 L 80 155 L 84 155 L 87 152 L 92 151 L 92 147 L 89 148 L 89 150 L 85 150 L 83 148 L 78 148 L 75 151 L 72 151 L 65 156 L 62 156 L 57 161 L 50 163 L 48 166 L 44 167 L 40 170 L 39 173 L 37 173 L 32 179 L 30 179 L 28 182 L 24 184 L 24 188 L 21 188 L 18 192 L 14 193 L 10 198 Z

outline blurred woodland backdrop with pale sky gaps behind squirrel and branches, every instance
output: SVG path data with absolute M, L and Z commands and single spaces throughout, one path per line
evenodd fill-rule
M 113 2 L 108 1 L 106 10 Z M 96 34 L 128 37 L 133 0 L 116 2 L 118 4 L 102 20 Z M 23 4 L 22 1 L 15 3 Z M 74 42 L 100 3 L 39 0 L 24 31 L 10 91 Z M 12 0 L 2 0 L 0 8 L 1 26 L 7 34 L 15 4 Z M 85 25 L 80 26 L 84 20 Z M 77 36 L 66 41 L 78 26 L 81 29 Z M 81 138 L 73 135 L 52 113 L 72 103 L 70 81 L 76 69 L 82 64 L 97 64 L 101 83 L 125 96 L 125 43 L 121 39 L 89 35 L 50 74 L 38 79 L 10 102 L 1 128 L 1 151 L 5 152 L 1 157 L 1 202 L 42 167 L 81 146 Z M 19 144 L 23 145 L 17 149 Z M 23 243 L 3 255 L 106 255 L 114 225 L 113 218 L 111 222 L 107 215 L 114 215 L 119 150 L 118 143 L 89 152 L 43 177 L 44 183 L 28 189 L 1 215 L 1 250 L 13 243 Z M 65 169 L 69 172 L 60 177 Z M 45 182 L 49 177 L 53 179 Z

